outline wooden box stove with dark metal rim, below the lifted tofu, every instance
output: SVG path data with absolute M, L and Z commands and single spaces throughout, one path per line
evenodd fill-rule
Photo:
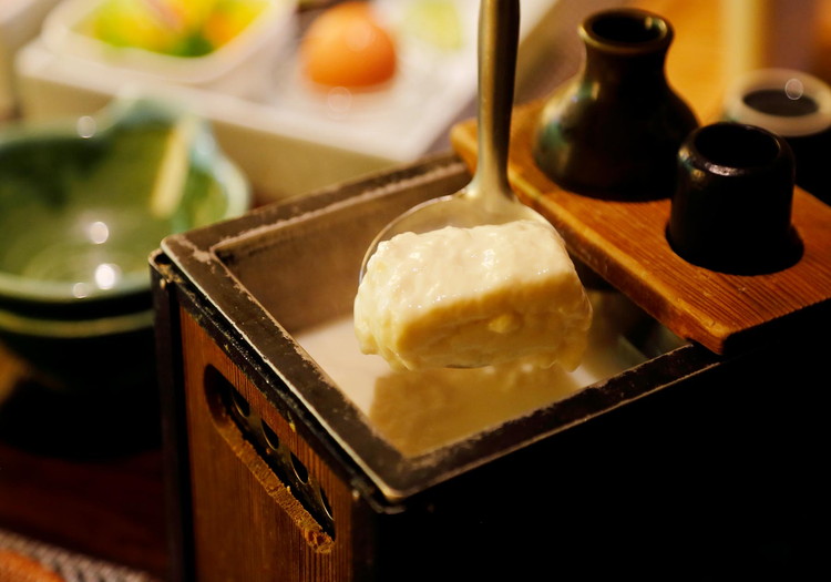
M 435 390 L 422 378 L 367 387 L 363 405 L 307 353 L 298 337 L 351 313 L 381 226 L 469 178 L 460 157 L 439 155 L 172 236 L 151 257 L 174 578 L 808 568 L 828 484 L 827 340 L 783 333 L 727 355 L 681 341 L 594 274 L 614 269 L 577 256 L 607 349 L 632 361 L 583 389 Z

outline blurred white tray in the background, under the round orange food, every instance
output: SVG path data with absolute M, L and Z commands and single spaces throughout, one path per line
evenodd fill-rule
M 417 1 L 376 0 L 373 6 L 390 30 L 401 34 L 408 6 Z M 295 58 L 304 33 L 300 23 L 284 58 L 258 75 L 264 86 L 256 96 L 166 82 L 111 60 L 60 52 L 44 33 L 18 57 L 22 112 L 29 118 L 86 114 L 125 92 L 186 103 L 214 123 L 223 150 L 258 197 L 305 194 L 445 147 L 452 124 L 473 114 L 479 2 L 449 2 L 459 14 L 458 48 L 440 52 L 401 39 L 396 78 L 382 90 L 351 94 L 346 109 L 342 102 L 331 108 L 330 95 L 302 76 Z M 531 63 L 571 22 L 563 13 L 574 10 L 564 0 L 523 6 L 517 83 L 538 74 Z

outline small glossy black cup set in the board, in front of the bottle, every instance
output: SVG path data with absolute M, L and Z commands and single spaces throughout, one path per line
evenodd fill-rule
M 793 153 L 781 136 L 732 122 L 699 127 L 678 151 L 669 244 L 712 270 L 787 268 L 802 253 L 791 224 L 793 184 Z

